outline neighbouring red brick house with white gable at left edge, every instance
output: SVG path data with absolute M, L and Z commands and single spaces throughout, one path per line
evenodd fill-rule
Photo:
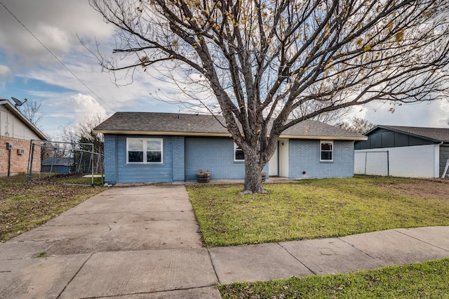
M 8 100 L 0 100 L 0 176 L 26 173 L 30 140 L 46 140 L 36 128 Z M 34 149 L 34 171 L 41 169 L 41 149 Z

